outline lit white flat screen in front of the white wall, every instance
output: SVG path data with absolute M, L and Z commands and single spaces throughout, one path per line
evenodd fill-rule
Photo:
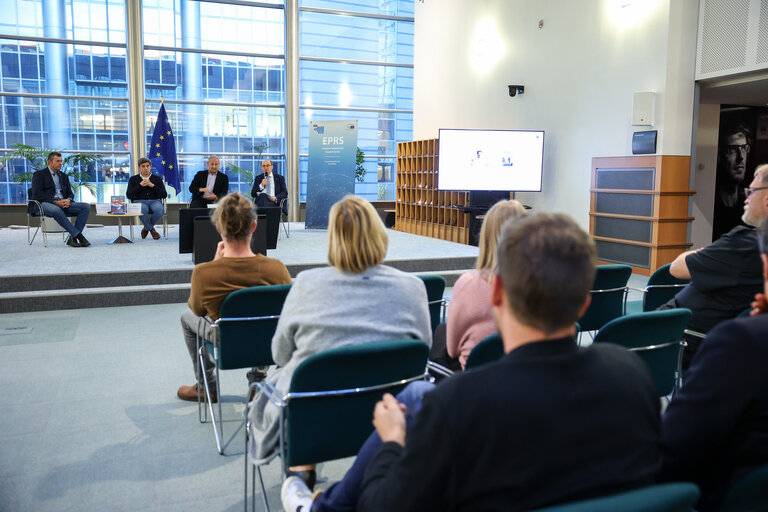
M 541 192 L 544 132 L 440 129 L 439 190 Z

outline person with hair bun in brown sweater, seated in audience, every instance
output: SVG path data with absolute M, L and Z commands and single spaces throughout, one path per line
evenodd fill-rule
M 197 384 L 181 386 L 177 396 L 182 400 L 196 402 L 198 386 L 200 396 L 203 376 L 198 370 L 196 333 L 201 317 L 216 320 L 224 298 L 235 290 L 250 286 L 289 284 L 291 276 L 279 260 L 267 258 L 251 251 L 251 237 L 256 229 L 256 211 L 253 204 L 243 195 L 234 192 L 221 199 L 213 212 L 213 223 L 222 241 L 216 249 L 213 261 L 200 263 L 192 271 L 192 283 L 187 309 L 181 315 L 184 340 L 192 358 Z M 205 337 L 211 335 L 206 329 Z M 209 383 L 211 401 L 216 402 L 216 372 L 210 354 L 206 353 L 205 368 Z M 263 378 L 264 371 L 256 368 L 248 373 L 249 382 Z

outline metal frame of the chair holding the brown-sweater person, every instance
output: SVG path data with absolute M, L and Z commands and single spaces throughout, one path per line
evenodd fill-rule
M 197 324 L 197 357 L 198 357 L 198 365 L 197 365 L 197 371 L 198 371 L 198 382 L 200 372 L 205 367 L 204 363 L 204 348 L 205 348 L 205 338 L 201 336 L 202 329 L 205 328 L 207 325 L 210 327 L 210 332 L 213 334 L 213 338 L 208 340 L 210 344 L 213 346 L 213 360 L 216 363 L 216 397 L 221 398 L 221 388 L 220 388 L 220 374 L 219 374 L 219 357 L 218 357 L 218 351 L 219 351 L 219 326 L 227 323 L 227 322 L 259 322 L 263 320 L 277 320 L 280 318 L 280 315 L 264 315 L 264 316 L 249 316 L 249 317 L 228 317 L 228 318 L 219 318 L 215 322 L 211 322 L 211 320 L 207 317 L 201 318 L 198 321 Z M 218 418 L 218 428 L 216 427 L 216 414 L 213 409 L 213 404 L 211 403 L 211 397 L 210 392 L 208 390 L 208 376 L 205 374 L 204 371 L 202 371 L 203 374 L 203 382 L 205 385 L 205 397 L 206 401 L 208 402 L 208 407 L 203 405 L 202 403 L 202 395 L 200 393 L 200 386 L 197 387 L 197 415 L 198 420 L 200 423 L 206 423 L 208 421 L 208 412 L 211 414 L 211 423 L 213 425 L 213 434 L 216 437 L 216 448 L 219 450 L 219 453 L 221 455 L 224 455 L 224 448 L 226 448 L 226 445 L 229 444 L 231 439 L 227 441 L 226 444 L 222 445 L 223 437 L 224 437 L 224 417 L 221 412 L 221 400 L 217 400 L 217 405 L 219 409 L 219 418 Z M 249 390 L 250 392 L 250 390 Z M 246 395 L 248 396 L 248 395 Z M 245 420 L 244 420 L 245 421 Z M 235 431 L 237 432 L 237 430 Z M 247 437 L 247 436 L 246 436 Z

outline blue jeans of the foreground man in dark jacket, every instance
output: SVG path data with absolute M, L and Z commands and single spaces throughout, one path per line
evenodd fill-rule
M 422 380 L 411 382 L 397 394 L 397 401 L 404 403 L 407 407 L 405 413 L 406 428 L 411 426 L 416 413 L 421 409 L 421 399 L 424 394 L 434 388 L 434 384 Z M 357 498 L 360 496 L 365 470 L 378 453 L 381 445 L 381 438 L 374 431 L 360 448 L 360 451 L 357 452 L 357 458 L 344 478 L 331 485 L 312 503 L 312 512 L 353 512 L 357 506 Z

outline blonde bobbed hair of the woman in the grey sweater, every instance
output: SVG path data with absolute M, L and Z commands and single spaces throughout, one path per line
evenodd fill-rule
M 344 272 L 359 274 L 384 261 L 387 231 L 371 203 L 347 195 L 331 207 L 328 261 Z

